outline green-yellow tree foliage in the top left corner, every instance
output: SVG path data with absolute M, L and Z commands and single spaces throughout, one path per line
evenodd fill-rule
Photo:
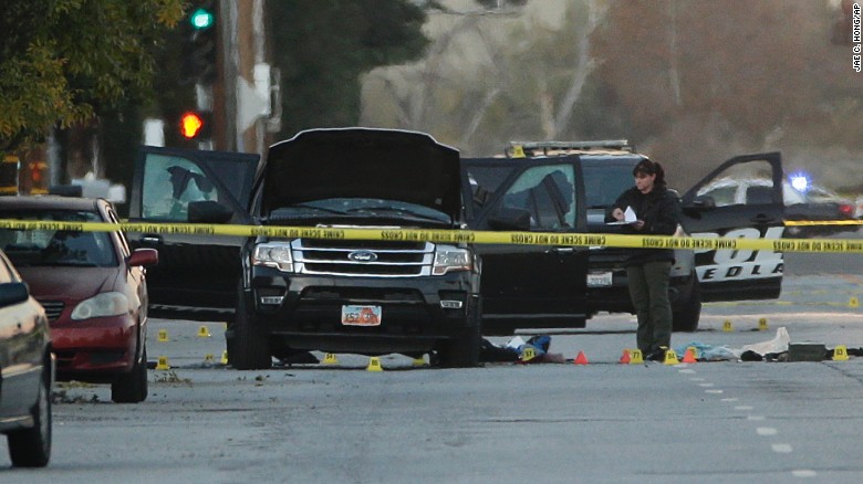
M 183 0 L 3 0 L 0 151 L 152 95 L 153 53 Z

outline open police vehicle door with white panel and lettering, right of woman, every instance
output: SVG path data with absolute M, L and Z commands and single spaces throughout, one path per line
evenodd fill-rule
M 781 239 L 782 186 L 778 152 L 732 158 L 684 194 L 684 229 L 694 238 Z M 695 264 L 705 302 L 779 297 L 781 252 L 696 249 Z

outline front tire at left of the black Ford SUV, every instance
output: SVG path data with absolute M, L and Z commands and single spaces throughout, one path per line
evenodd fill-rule
M 246 298 L 239 294 L 233 323 L 225 334 L 228 364 L 238 370 L 272 368 L 267 338 L 254 323 L 254 317 L 246 309 Z

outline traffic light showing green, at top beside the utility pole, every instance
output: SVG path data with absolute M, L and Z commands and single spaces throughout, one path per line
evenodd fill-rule
M 184 74 L 187 82 L 210 84 L 216 78 L 216 53 L 218 51 L 217 2 L 199 0 L 193 2 L 184 22 Z

